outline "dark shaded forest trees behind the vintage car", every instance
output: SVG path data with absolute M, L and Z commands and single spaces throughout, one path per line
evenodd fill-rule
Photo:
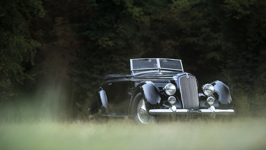
M 266 1 L 1 0 L 0 118 L 86 119 L 129 59 L 182 59 L 230 87 L 237 115 L 265 114 Z

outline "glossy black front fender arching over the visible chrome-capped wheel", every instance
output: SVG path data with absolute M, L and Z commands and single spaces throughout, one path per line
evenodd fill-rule
M 157 105 L 161 102 L 159 88 L 151 81 L 140 82 L 134 91 L 134 95 L 139 92 L 148 104 Z

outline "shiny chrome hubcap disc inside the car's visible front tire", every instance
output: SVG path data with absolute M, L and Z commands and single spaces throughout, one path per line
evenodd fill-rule
M 141 99 L 138 103 L 138 119 L 144 124 L 149 124 L 154 119 L 154 117 L 147 112 L 144 99 Z

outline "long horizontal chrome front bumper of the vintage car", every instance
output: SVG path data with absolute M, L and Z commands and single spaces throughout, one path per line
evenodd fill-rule
M 211 106 L 208 109 L 199 109 L 197 111 L 189 109 L 177 109 L 175 106 L 169 109 L 150 109 L 149 114 L 151 115 L 234 115 L 233 109 L 215 109 Z

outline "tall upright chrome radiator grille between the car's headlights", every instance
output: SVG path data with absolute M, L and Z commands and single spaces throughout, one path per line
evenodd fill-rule
M 199 109 L 199 96 L 197 80 L 191 75 L 185 75 L 179 78 L 180 93 L 182 104 L 185 109 Z

